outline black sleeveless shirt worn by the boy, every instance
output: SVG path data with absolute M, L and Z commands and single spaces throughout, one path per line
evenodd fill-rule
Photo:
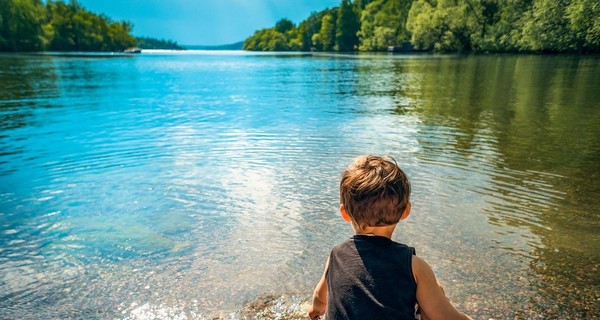
M 415 319 L 415 249 L 385 237 L 355 235 L 335 246 L 327 269 L 326 320 Z

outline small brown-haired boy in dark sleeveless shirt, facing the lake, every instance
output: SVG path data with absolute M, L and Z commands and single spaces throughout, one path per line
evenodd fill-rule
M 308 314 L 336 319 L 471 319 L 458 312 L 414 248 L 391 240 L 410 214 L 410 182 L 392 158 L 361 156 L 344 170 L 340 212 L 355 235 L 335 246 Z M 472 320 L 472 319 L 471 319 Z

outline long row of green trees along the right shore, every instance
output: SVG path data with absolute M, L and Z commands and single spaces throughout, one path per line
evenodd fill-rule
M 342 0 L 297 26 L 282 19 L 253 51 L 600 52 L 598 0 Z

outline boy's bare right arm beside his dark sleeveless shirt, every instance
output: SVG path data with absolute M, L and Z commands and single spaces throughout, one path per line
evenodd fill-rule
M 425 260 L 413 256 L 412 269 L 417 282 L 417 302 L 423 319 L 473 320 L 452 306 Z

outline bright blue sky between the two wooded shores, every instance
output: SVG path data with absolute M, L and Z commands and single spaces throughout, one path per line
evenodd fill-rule
M 298 24 L 341 0 L 79 0 L 87 10 L 133 23 L 133 35 L 181 45 L 243 41 L 287 18 Z

